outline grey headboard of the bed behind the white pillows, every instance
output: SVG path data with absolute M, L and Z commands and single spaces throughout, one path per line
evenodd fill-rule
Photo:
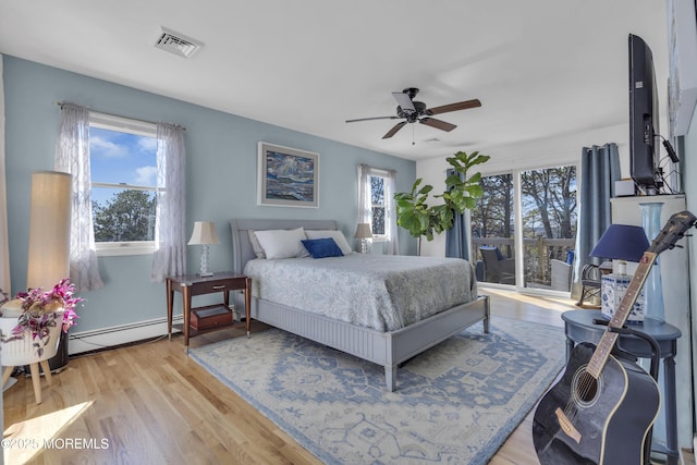
M 233 271 L 242 273 L 247 261 L 256 258 L 249 242 L 249 230 L 292 230 L 301 227 L 306 230 L 339 229 L 333 220 L 231 220 Z

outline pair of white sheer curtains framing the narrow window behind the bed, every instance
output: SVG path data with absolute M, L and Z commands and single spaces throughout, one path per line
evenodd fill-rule
M 372 223 L 372 200 L 370 176 L 384 179 L 384 253 L 399 255 L 396 206 L 394 201 L 396 172 L 393 170 L 380 170 L 367 164 L 358 164 L 358 222 Z

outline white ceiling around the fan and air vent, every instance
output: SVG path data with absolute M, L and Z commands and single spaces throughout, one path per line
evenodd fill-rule
M 204 47 L 159 50 L 161 26 Z M 665 95 L 660 0 L 0 0 L 1 53 L 408 159 L 626 124 L 628 33 Z M 396 121 L 344 122 L 405 87 L 482 107 L 391 139 Z

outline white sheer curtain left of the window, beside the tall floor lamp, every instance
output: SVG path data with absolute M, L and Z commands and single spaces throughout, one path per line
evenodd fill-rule
M 97 265 L 89 179 L 89 110 L 61 106 L 61 129 L 56 144 L 56 171 L 73 175 L 70 232 L 70 279 L 77 292 L 103 286 Z

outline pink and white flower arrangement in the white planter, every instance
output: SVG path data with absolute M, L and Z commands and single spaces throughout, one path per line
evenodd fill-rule
M 40 356 L 44 346 L 49 342 L 50 328 L 58 325 L 58 319 L 62 320 L 64 332 L 68 332 L 69 328 L 75 325 L 75 319 L 78 318 L 75 314 L 75 307 L 84 299 L 73 295 L 74 289 L 74 284 L 65 278 L 51 291 L 36 287 L 29 292 L 19 293 L 17 298 L 22 301 L 24 313 L 20 316 L 17 326 L 12 330 L 12 339 L 23 339 L 25 332 L 30 332 L 33 340 L 39 339 L 34 345 Z M 62 314 L 57 313 L 61 309 Z

